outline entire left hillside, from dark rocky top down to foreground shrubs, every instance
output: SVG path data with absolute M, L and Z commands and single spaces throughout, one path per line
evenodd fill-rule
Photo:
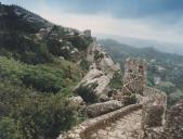
M 0 4 L 1 139 L 51 139 L 84 118 L 68 98 L 88 72 L 92 41 L 24 8 Z

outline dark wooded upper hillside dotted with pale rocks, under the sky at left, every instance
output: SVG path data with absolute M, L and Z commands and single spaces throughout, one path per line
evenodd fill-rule
M 1 4 L 0 12 L 1 54 L 25 63 L 51 62 L 51 56 L 78 60 L 75 55 L 91 42 L 80 31 L 51 24 L 17 5 Z

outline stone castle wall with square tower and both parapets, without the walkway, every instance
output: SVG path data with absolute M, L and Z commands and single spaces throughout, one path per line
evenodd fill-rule
M 95 131 L 118 118 L 142 109 L 141 127 L 144 139 L 162 139 L 167 96 L 165 92 L 146 86 L 146 64 L 142 61 L 127 60 L 125 68 L 125 85 L 122 96 L 139 94 L 145 99 L 140 104 L 131 104 L 115 112 L 88 119 L 57 139 L 84 139 L 91 131 Z M 170 116 L 171 117 L 171 116 Z M 171 138 L 168 138 L 171 139 Z M 172 138 L 173 139 L 173 138 Z

